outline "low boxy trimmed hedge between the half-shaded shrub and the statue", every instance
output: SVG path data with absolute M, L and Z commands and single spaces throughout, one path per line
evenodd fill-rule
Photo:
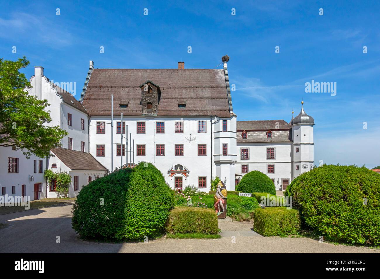
M 218 218 L 209 208 L 176 207 L 170 211 L 166 230 L 169 233 L 218 233 Z

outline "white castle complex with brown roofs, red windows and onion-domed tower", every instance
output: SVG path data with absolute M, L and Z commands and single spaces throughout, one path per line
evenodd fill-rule
M 209 191 L 219 177 L 234 190 L 245 173 L 260 170 L 285 190 L 313 167 L 314 120 L 302 105 L 291 123 L 236 121 L 225 58 L 223 69 L 184 69 L 184 62 L 178 69 L 95 69 L 90 61 L 80 101 L 35 67 L 28 92 L 48 100 L 49 125 L 69 135 L 49 158 L 1 147 L 2 194 L 55 197 L 43 178 L 52 169 L 70 173 L 74 197 L 107 171 L 141 161 L 152 162 L 171 188 Z

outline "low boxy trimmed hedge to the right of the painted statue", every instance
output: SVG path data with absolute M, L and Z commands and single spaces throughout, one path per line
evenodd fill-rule
M 297 210 L 267 207 L 253 211 L 253 230 L 262 236 L 295 235 L 300 227 L 301 219 Z

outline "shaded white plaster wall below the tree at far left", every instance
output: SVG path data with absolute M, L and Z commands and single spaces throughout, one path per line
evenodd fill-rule
M 8 173 L 8 157 L 19 158 L 19 173 Z M 42 183 L 43 192 L 38 194 L 39 199 L 46 195 L 46 182 L 44 173 L 38 173 L 38 160 L 43 161 L 43 172 L 46 169 L 46 159 L 31 156 L 26 159 L 21 150 L 12 150 L 12 147 L 0 147 L 0 187 L 6 187 L 8 196 L 21 196 L 23 184 L 25 187 L 25 195 L 34 200 L 34 184 Z M 37 173 L 34 173 L 34 160 L 37 160 Z M 33 175 L 34 181 L 30 181 L 29 175 Z M 12 186 L 16 186 L 16 193 L 12 194 Z M 1 194 L 1 188 L 0 188 Z

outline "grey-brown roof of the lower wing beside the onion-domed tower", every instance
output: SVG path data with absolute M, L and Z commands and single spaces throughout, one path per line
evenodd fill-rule
M 276 127 L 277 123 L 279 124 L 278 127 Z M 236 142 L 292 142 L 290 128 L 291 125 L 285 120 L 236 121 Z M 269 130 L 272 131 L 271 139 L 266 136 L 266 132 Z M 247 132 L 247 139 L 243 139 L 243 131 Z

